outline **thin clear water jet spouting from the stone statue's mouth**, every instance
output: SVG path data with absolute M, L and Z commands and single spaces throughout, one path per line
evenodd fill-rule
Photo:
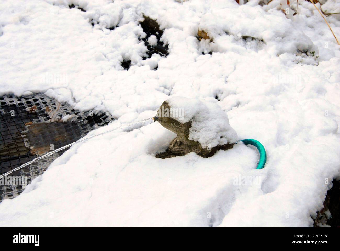
M 93 136 L 85 137 L 85 138 L 83 138 L 83 139 L 80 139 L 80 140 L 78 140 L 78 141 L 75 141 L 75 142 L 73 142 L 73 143 L 70 143 L 70 144 L 68 144 L 68 145 L 65 145 L 65 146 L 60 147 L 60 148 L 58 148 L 58 149 L 55 149 L 55 150 L 53 150 L 53 151 L 47 152 L 47 153 L 45 153 L 44 155 L 41 155 L 41 156 L 39 156 L 39 157 L 37 157 L 37 158 L 34 158 L 33 160 L 31 160 L 31 161 L 29 161 L 29 162 L 27 162 L 27 163 L 25 163 L 25 164 L 22 164 L 21 166 L 19 166 L 19 167 L 15 168 L 15 169 L 13 169 L 13 170 L 11 170 L 11 171 L 8 171 L 8 172 L 6 172 L 6 173 L 0 175 L 0 179 L 3 178 L 3 177 L 6 177 L 7 175 L 11 174 L 12 172 L 14 172 L 14 171 L 16 171 L 16 170 L 19 170 L 19 169 L 21 169 L 21 168 L 23 168 L 23 167 L 26 167 L 26 166 L 32 164 L 33 162 L 36 162 L 36 161 L 38 161 L 38 160 L 41 160 L 42 158 L 45 158 L 45 157 L 47 157 L 47 156 L 50 156 L 50 155 L 52 155 L 53 153 L 62 151 L 62 150 L 64 150 L 64 149 L 69 148 L 69 147 L 71 147 L 71 146 L 73 146 L 73 145 L 75 145 L 75 144 L 78 144 L 78 143 L 80 143 L 80 142 L 86 141 L 86 140 L 88 140 L 88 139 L 91 139 L 91 138 L 94 138 L 94 137 L 97 137 L 97 136 L 104 135 L 104 134 L 109 133 L 109 132 L 116 131 L 116 130 L 118 130 L 118 129 L 123 129 L 123 128 L 127 128 L 127 127 L 130 127 L 130 126 L 135 125 L 135 124 L 143 123 L 143 122 L 146 122 L 146 121 L 149 121 L 149 120 L 156 121 L 156 120 L 155 120 L 155 117 L 153 117 L 153 118 L 148 118 L 148 119 L 140 120 L 140 121 L 137 121 L 137 122 L 133 122 L 133 123 L 130 123 L 130 124 L 126 124 L 126 125 L 121 125 L 120 127 L 116 127 L 116 128 L 114 128 L 114 129 L 111 129 L 111 130 L 108 130 L 108 131 L 105 131 L 105 132 L 102 132 L 102 133 L 99 133 L 99 134 L 96 134 L 96 135 L 93 135 Z

